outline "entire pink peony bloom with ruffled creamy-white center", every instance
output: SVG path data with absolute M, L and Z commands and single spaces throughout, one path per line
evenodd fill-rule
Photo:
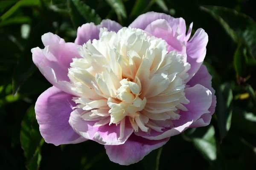
M 189 40 L 191 31 L 183 18 L 148 12 L 128 28 L 86 23 L 75 43 L 44 34 L 45 48 L 32 57 L 53 85 L 35 104 L 45 141 L 90 139 L 128 165 L 189 127 L 209 125 L 216 97 L 202 65 L 208 36 L 200 28 Z

